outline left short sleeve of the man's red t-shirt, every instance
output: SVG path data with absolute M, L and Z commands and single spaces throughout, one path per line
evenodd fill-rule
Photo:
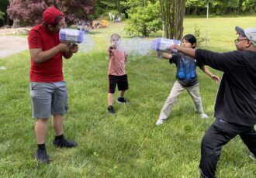
M 38 30 L 31 29 L 28 36 L 29 49 L 42 48 L 42 36 Z

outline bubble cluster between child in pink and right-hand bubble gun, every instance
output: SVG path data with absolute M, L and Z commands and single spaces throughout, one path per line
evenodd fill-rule
M 150 53 L 150 41 L 147 39 L 119 39 L 117 49 L 126 51 L 130 56 L 145 56 Z

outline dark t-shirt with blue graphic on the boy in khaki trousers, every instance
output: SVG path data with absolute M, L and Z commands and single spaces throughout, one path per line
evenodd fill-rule
M 196 76 L 196 66 L 201 66 L 196 60 L 183 53 L 173 54 L 170 63 L 175 63 L 177 67 L 176 80 L 184 87 L 198 84 Z

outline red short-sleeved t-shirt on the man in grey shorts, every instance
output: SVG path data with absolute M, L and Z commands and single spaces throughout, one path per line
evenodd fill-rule
M 43 25 L 34 26 L 29 31 L 29 49 L 40 48 L 50 50 L 60 42 L 58 33 L 50 33 Z M 62 53 L 46 60 L 43 63 L 34 63 L 31 60 L 29 77 L 31 82 L 58 82 L 64 80 L 62 73 Z

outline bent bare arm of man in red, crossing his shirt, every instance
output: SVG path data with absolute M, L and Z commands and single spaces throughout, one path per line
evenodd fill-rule
M 57 53 L 68 52 L 69 50 L 69 43 L 60 43 L 50 50 L 43 51 L 40 48 L 34 48 L 30 49 L 29 53 L 34 63 L 43 63 L 46 60 L 50 60 L 50 58 L 55 56 Z

